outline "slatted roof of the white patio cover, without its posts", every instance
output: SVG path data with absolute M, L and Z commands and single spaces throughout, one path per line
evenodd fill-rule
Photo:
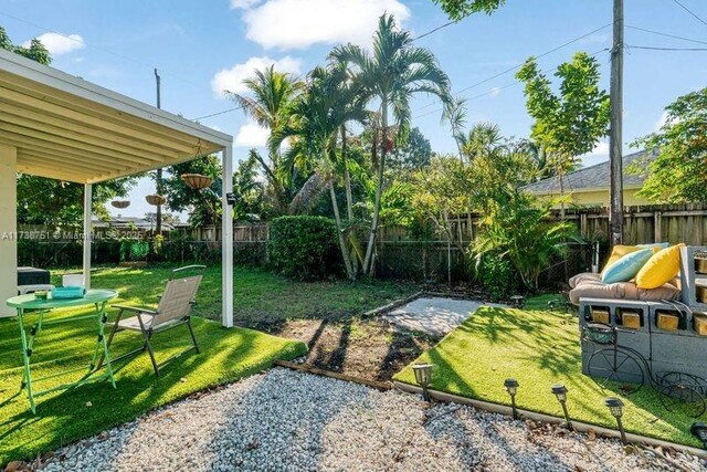
M 23 174 L 95 183 L 219 151 L 232 137 L 0 50 L 0 144 Z

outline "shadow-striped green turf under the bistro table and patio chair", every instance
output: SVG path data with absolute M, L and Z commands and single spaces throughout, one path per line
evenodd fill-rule
M 123 281 L 119 275 L 125 273 L 99 272 L 96 285 L 105 286 L 104 282 L 110 282 L 109 285 L 118 290 L 130 289 L 126 295 L 131 296 L 126 298 L 131 300 L 136 298 L 135 292 L 146 297 L 159 292 L 148 279 L 138 276 Z M 57 312 L 52 316 L 70 313 Z M 32 361 L 36 363 L 33 374 L 40 377 L 87 366 L 95 343 L 93 323 L 81 321 L 42 332 L 32 356 Z M 203 318 L 194 319 L 194 329 L 202 352 L 188 354 L 166 366 L 159 379 L 151 370 L 149 357 L 143 354 L 119 370 L 117 389 L 101 381 L 49 394 L 38 398 L 36 415 L 32 415 L 27 396 L 19 394 L 22 369 L 17 319 L 0 321 L 0 465 L 15 459 L 32 459 L 39 452 L 96 434 L 198 390 L 268 368 L 275 359 L 291 360 L 307 350 L 303 343 L 246 328 L 224 329 Z M 139 335 L 120 333 L 112 352 L 117 355 L 140 345 Z M 186 327 L 155 337 L 158 361 L 187 346 Z M 35 385 L 35 389 L 73 380 L 77 375 L 81 373 L 46 380 L 44 387 Z

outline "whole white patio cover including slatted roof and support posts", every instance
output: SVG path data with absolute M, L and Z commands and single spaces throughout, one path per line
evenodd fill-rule
M 232 191 L 232 143 L 224 133 L 158 109 L 0 49 L 0 316 L 17 295 L 17 172 L 83 183 L 84 234 L 92 185 L 184 162 L 223 157 L 222 204 Z M 233 222 L 223 211 L 222 319 L 233 326 Z M 91 238 L 84 240 L 91 284 Z

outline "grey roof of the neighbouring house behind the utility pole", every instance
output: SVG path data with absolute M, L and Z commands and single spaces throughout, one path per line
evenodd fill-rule
M 624 188 L 641 188 L 645 181 L 645 176 L 627 174 L 626 168 L 636 160 L 652 157 L 646 150 L 630 154 L 623 157 L 623 187 Z M 564 191 L 592 191 L 592 190 L 608 190 L 609 189 L 609 161 L 597 164 L 576 170 L 566 175 L 562 178 Z M 523 187 L 530 193 L 545 195 L 545 193 L 559 193 L 560 182 L 557 177 L 549 177 L 547 179 L 539 180 L 535 183 L 529 183 Z

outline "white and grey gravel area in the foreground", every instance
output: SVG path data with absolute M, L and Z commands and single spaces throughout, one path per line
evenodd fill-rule
M 56 451 L 45 471 L 707 470 L 614 440 L 275 368 Z

